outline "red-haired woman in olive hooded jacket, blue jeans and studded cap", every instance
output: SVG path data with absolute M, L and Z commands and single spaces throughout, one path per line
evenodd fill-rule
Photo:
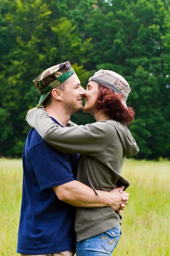
M 125 103 L 129 92 L 129 84 L 122 76 L 99 70 L 89 79 L 83 109 L 94 115 L 96 123 L 61 128 L 43 110 L 29 113 L 27 121 L 59 151 L 81 153 L 78 181 L 95 192 L 110 191 L 121 185 L 126 189 L 129 181 L 121 176 L 125 157 L 139 151 L 126 127 L 134 118 L 133 109 Z M 110 207 L 77 207 L 77 256 L 111 255 L 121 234 L 121 218 Z

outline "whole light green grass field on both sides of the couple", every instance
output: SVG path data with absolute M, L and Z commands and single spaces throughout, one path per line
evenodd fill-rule
M 115 256 L 170 256 L 170 162 L 125 161 L 130 180 Z M 22 161 L 0 159 L 0 256 L 16 256 Z

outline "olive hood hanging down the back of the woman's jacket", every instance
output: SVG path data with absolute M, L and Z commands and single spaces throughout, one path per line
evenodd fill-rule
M 113 119 L 110 120 L 113 121 Z M 109 121 L 109 119 L 107 121 Z M 124 156 L 126 157 L 128 154 L 130 156 L 137 154 L 139 152 L 139 147 L 137 146 L 136 141 L 132 137 L 132 134 L 130 133 L 126 125 L 123 125 L 121 122 L 118 121 L 114 121 L 112 122 L 112 124 L 114 125 L 117 134 L 121 140 Z

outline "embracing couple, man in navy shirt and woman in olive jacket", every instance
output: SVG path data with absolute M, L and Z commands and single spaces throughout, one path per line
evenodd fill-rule
M 126 105 L 129 84 L 99 70 L 85 90 L 69 61 L 33 82 L 41 97 L 26 116 L 32 128 L 23 150 L 17 253 L 74 256 L 76 249 L 77 256 L 111 256 L 129 199 L 122 166 L 139 151 L 127 128 L 134 118 Z M 95 123 L 70 121 L 82 108 Z

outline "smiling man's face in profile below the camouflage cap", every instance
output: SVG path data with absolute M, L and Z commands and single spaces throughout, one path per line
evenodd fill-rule
M 67 113 L 73 114 L 83 108 L 81 99 L 85 95 L 85 89 L 81 87 L 76 74 L 67 80 L 65 90 L 61 91 L 61 95 Z

